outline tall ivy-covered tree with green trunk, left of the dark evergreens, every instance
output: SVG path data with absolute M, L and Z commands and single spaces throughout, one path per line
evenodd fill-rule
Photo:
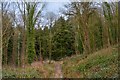
M 34 37 L 34 27 L 36 22 L 39 20 L 38 17 L 41 14 L 42 8 L 36 13 L 38 3 L 26 3 L 27 9 L 27 16 L 26 16 L 26 27 L 27 27 L 27 56 L 28 56 L 28 63 L 32 63 L 35 58 L 35 37 Z

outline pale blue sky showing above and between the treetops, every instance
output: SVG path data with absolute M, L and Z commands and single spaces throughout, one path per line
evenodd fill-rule
M 60 8 L 63 8 L 65 4 L 67 4 L 67 3 L 66 2 L 60 2 L 60 3 L 59 2 L 47 2 L 45 8 L 43 9 L 42 14 L 45 15 L 47 12 L 53 12 L 56 15 L 60 16 Z M 15 6 L 13 6 L 12 4 L 10 4 L 10 5 L 11 6 L 9 7 L 9 9 L 11 11 L 15 10 L 16 17 L 19 18 L 20 17 L 19 14 L 21 14 L 21 13 L 19 12 L 18 7 L 15 8 Z M 40 8 L 41 8 L 41 6 L 38 7 L 38 9 L 40 9 Z M 22 6 L 21 6 L 21 9 L 22 9 Z M 18 19 L 17 22 L 21 22 L 19 20 L 20 19 Z

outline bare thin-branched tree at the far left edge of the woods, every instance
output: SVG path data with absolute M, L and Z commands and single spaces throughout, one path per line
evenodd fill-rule
M 4 56 L 4 63 L 7 64 L 7 47 L 8 41 L 12 36 L 12 18 L 11 14 L 9 14 L 8 9 L 10 3 L 1 3 L 1 10 L 2 10 L 2 48 L 3 48 L 3 56 Z

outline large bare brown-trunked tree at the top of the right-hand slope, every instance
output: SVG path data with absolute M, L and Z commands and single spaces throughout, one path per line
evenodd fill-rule
M 95 9 L 91 7 L 91 4 L 92 2 L 72 2 L 69 5 L 69 7 L 66 6 L 68 8 L 68 12 L 65 13 L 66 15 L 75 17 L 74 21 L 76 21 L 77 23 L 76 30 L 79 31 L 79 29 L 81 29 L 81 31 L 83 31 L 82 35 L 84 36 L 83 46 L 84 46 L 85 53 L 89 53 L 91 51 L 88 20 L 89 20 L 89 16 L 95 11 Z M 77 38 L 78 38 L 78 34 L 76 33 L 76 37 L 75 37 L 76 48 L 78 47 Z M 77 49 L 76 49 L 76 52 L 78 52 Z

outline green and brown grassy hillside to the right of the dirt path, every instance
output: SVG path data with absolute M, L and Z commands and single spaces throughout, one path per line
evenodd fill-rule
M 64 77 L 71 78 L 116 78 L 118 77 L 118 49 L 109 47 L 89 54 L 87 58 L 79 55 L 65 59 L 63 73 Z

